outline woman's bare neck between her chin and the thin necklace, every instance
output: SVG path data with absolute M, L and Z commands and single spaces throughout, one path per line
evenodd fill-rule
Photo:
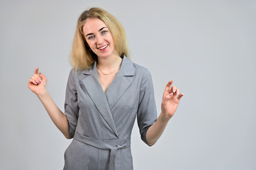
M 118 55 L 113 55 L 106 58 L 98 57 L 97 67 L 101 70 L 111 71 L 113 69 L 119 69 L 121 62 L 122 58 Z

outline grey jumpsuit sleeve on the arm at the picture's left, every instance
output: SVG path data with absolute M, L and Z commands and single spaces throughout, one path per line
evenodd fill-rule
M 74 137 L 77 128 L 79 107 L 77 103 L 77 89 L 74 84 L 74 71 L 69 72 L 65 97 L 65 115 L 67 116 L 69 137 Z

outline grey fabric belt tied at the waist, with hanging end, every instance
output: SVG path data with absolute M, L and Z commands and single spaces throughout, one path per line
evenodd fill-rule
M 80 135 L 79 133 L 74 133 L 74 139 L 79 142 L 83 142 L 87 145 L 91 145 L 92 147 L 96 147 L 99 149 L 110 150 L 110 160 L 109 160 L 109 170 L 115 170 L 115 161 L 116 161 L 116 151 L 118 149 L 126 149 L 130 147 L 130 138 L 128 139 L 118 139 L 118 140 L 94 140 L 91 137 L 86 137 L 84 135 Z M 123 141 L 122 145 L 117 145 L 117 142 Z M 114 144 L 116 142 L 116 144 Z M 112 146 L 113 145 L 113 146 Z

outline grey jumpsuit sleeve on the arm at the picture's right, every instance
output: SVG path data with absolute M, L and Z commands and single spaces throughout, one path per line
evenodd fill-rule
M 140 97 L 137 113 L 138 127 L 143 142 L 148 145 L 146 134 L 148 128 L 157 120 L 157 108 L 155 106 L 155 95 L 152 84 L 152 77 L 148 69 L 145 69 L 143 79 L 140 84 Z

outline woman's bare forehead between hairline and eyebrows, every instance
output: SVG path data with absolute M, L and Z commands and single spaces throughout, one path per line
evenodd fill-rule
M 87 18 L 83 26 L 83 32 L 86 35 L 87 33 L 98 32 L 103 27 L 106 27 L 106 24 L 99 18 Z

